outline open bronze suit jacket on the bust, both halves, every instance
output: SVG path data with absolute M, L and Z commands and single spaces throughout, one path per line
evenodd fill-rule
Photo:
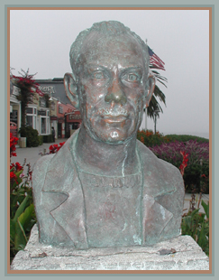
M 40 242 L 87 248 L 85 200 L 72 149 L 78 131 L 57 154 L 44 155 L 32 173 Z M 180 235 L 184 183 L 178 169 L 157 158 L 140 141 L 143 167 L 141 245 Z

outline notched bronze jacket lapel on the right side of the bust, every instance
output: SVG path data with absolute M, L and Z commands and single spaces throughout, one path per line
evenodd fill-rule
M 142 241 L 143 244 L 151 245 L 160 240 L 163 229 L 173 217 L 165 204 L 160 204 L 160 197 L 176 191 L 176 187 L 168 178 L 167 164 L 140 142 L 138 149 L 143 169 Z

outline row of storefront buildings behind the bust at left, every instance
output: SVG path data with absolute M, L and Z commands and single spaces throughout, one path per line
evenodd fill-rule
M 36 79 L 44 94 L 34 94 L 26 109 L 26 124 L 37 129 L 39 135 L 50 135 L 55 129 L 56 138 L 68 138 L 81 124 L 80 112 L 70 104 L 63 79 Z M 20 89 L 10 84 L 10 123 L 19 131 L 21 127 Z M 10 126 L 11 127 L 11 126 Z

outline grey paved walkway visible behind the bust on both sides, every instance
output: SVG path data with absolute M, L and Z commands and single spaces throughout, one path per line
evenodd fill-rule
M 54 145 L 54 144 L 59 144 L 60 142 L 66 142 L 68 139 L 66 138 L 60 138 L 60 139 L 56 139 L 55 143 L 43 143 L 43 145 L 40 145 L 38 147 L 32 147 L 32 148 L 20 148 L 19 145 L 17 145 L 16 148 L 16 154 L 17 156 L 13 156 L 11 158 L 11 163 L 21 163 L 23 164 L 24 158 L 26 159 L 26 163 L 30 163 L 31 167 L 33 167 L 34 163 L 36 163 L 36 161 L 38 159 L 41 158 L 41 154 L 40 153 L 49 153 L 49 147 L 50 145 Z M 27 167 L 24 168 L 24 173 L 26 173 L 27 171 Z M 199 194 L 196 194 L 196 203 L 199 199 Z M 187 210 L 189 209 L 189 201 L 191 200 L 191 193 L 186 193 L 185 195 L 185 201 L 184 201 L 184 213 L 187 212 Z M 205 203 L 207 203 L 207 201 L 209 201 L 209 195 L 208 194 L 203 194 L 202 200 L 205 201 Z M 200 203 L 201 204 L 201 203 Z M 200 211 L 204 212 L 203 207 L 200 205 Z

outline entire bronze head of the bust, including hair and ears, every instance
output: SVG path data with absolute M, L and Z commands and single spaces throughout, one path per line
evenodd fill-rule
M 72 44 L 70 63 L 65 88 L 88 134 L 110 144 L 136 135 L 154 88 L 141 38 L 123 23 L 95 23 Z

